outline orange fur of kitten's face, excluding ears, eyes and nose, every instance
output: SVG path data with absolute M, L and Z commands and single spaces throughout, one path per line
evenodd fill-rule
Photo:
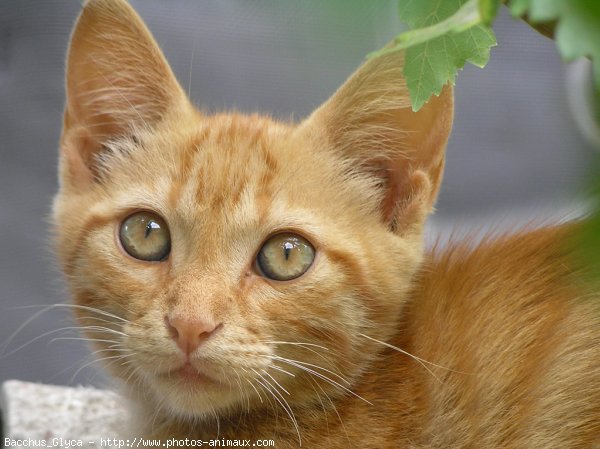
M 125 156 L 104 162 L 87 210 L 60 205 L 60 221 L 76 216 L 83 224 L 69 273 L 77 302 L 128 320 L 111 326 L 126 334 L 117 349 L 127 363 L 109 367 L 193 414 L 258 400 L 254 388 L 275 380 L 298 390 L 296 399 L 314 394 L 298 362 L 345 386 L 340 377 L 350 381 L 369 359 L 359 334 L 385 336 L 418 254 L 388 235 L 376 198 L 365 194 L 372 186 L 333 173 L 343 162 L 318 157 L 319 142 L 258 117 L 192 116 L 190 125 L 113 144 Z M 122 248 L 118 230 L 136 210 L 168 224 L 166 260 L 136 260 Z M 261 246 L 280 232 L 315 248 L 310 269 L 291 281 L 269 280 L 256 266 Z M 222 325 L 191 355 L 207 379 L 178 371 L 185 354 L 165 325 L 173 315 Z M 106 356 L 119 354 L 110 347 Z M 316 377 L 331 393 L 344 392 Z

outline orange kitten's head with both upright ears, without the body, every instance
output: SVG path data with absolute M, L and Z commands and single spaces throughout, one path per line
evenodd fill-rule
M 111 372 L 190 418 L 351 394 L 378 351 L 365 335 L 397 324 L 450 129 L 451 92 L 410 112 L 400 63 L 366 65 L 299 125 L 209 117 L 128 5 L 86 5 L 54 210 L 78 318 Z M 163 220 L 157 261 L 122 241 L 139 211 Z M 280 235 L 314 249 L 290 280 L 257 262 Z

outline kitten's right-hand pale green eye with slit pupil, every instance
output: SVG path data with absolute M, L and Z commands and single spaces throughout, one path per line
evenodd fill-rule
M 260 249 L 256 263 L 269 279 L 289 281 L 302 276 L 315 260 L 315 249 L 296 234 L 276 234 Z

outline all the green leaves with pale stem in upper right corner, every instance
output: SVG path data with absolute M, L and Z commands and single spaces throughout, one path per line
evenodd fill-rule
M 501 3 L 556 41 L 565 61 L 589 57 L 600 90 L 599 0 L 399 0 L 409 31 L 370 57 L 406 50 L 404 77 L 411 104 L 419 110 L 439 95 L 466 62 L 484 67 L 496 45 L 492 25 Z

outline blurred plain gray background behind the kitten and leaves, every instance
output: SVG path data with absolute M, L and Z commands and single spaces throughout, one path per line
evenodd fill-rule
M 132 3 L 196 104 L 287 119 L 306 116 L 400 30 L 396 1 Z M 72 326 L 68 312 L 44 313 L 19 330 L 40 310 L 29 306 L 68 301 L 47 217 L 57 189 L 64 57 L 79 9 L 78 0 L 0 0 L 0 382 L 103 382 L 97 365 L 84 367 L 91 359 L 80 341 L 43 336 Z M 489 65 L 458 76 L 430 241 L 453 229 L 580 210 L 582 176 L 597 149 L 595 131 L 586 139 L 574 119 L 585 68 L 565 67 L 552 41 L 504 11 L 495 28 Z

